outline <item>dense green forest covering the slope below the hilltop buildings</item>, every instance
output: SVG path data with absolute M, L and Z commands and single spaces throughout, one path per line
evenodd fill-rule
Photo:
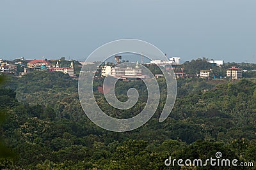
M 158 80 L 161 101 L 153 118 L 130 132 L 110 132 L 93 124 L 79 103 L 77 80 L 67 74 L 34 71 L 21 78 L 7 76 L 0 89 L 0 169 L 180 169 L 164 160 L 225 159 L 256 166 L 256 83 L 254 80 L 178 79 L 177 100 L 170 116 L 159 123 L 165 81 Z M 141 94 L 128 111 L 111 108 L 93 89 L 100 108 L 129 118 L 145 106 L 143 81 L 118 81 L 121 91 Z M 234 167 L 181 167 L 234 169 Z M 243 167 L 242 169 L 246 169 Z

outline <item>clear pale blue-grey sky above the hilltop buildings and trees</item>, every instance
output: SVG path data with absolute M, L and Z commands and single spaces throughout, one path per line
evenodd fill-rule
M 134 38 L 182 61 L 256 62 L 255 0 L 1 0 L 0 58 L 84 60 Z

